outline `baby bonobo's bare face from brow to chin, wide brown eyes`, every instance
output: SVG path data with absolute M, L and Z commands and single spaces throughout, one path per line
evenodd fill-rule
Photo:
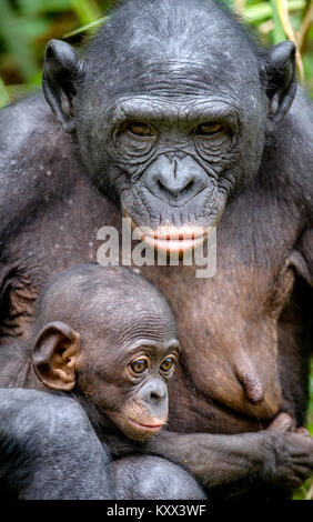
M 175 339 L 134 339 L 104 350 L 91 371 L 81 371 L 78 388 L 130 439 L 144 441 L 168 419 L 168 387 L 179 354 Z M 104 355 L 104 357 L 103 357 Z M 80 363 L 84 367 L 84 357 Z

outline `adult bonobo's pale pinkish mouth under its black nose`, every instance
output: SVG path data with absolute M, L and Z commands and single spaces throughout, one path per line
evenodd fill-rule
M 162 224 L 156 229 L 138 227 L 131 220 L 132 230 L 137 231 L 137 239 L 143 241 L 151 249 L 166 254 L 183 254 L 201 247 L 208 239 L 209 228 L 193 224 L 174 227 Z

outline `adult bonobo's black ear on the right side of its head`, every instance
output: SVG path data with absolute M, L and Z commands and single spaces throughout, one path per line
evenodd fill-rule
M 269 116 L 277 123 L 289 111 L 296 91 L 295 44 L 291 41 L 273 47 L 264 62 Z

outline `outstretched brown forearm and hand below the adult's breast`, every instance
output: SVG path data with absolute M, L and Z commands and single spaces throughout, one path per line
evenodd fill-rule
M 313 439 L 286 432 L 286 425 L 273 428 L 235 435 L 164 431 L 144 452 L 184 465 L 209 490 L 240 482 L 297 488 L 313 471 Z

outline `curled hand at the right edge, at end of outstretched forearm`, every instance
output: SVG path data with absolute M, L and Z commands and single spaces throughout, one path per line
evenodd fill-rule
M 313 472 L 313 438 L 305 428 L 294 431 L 287 413 L 277 415 L 267 431 L 271 432 L 272 462 L 267 463 L 266 480 L 299 488 Z

